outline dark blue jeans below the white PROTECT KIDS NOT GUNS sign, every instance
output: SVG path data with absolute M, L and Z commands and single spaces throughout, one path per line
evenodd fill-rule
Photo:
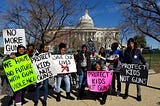
M 41 86 L 41 83 L 36 84 L 35 101 L 39 100 L 40 86 Z M 43 81 L 43 87 L 44 87 L 44 94 L 43 94 L 44 95 L 44 101 L 46 101 L 47 96 L 48 96 L 48 79 Z

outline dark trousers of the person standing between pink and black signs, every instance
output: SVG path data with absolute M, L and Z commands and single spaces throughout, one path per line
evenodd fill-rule
M 117 91 L 121 92 L 121 82 L 120 82 L 120 74 L 119 72 L 113 72 L 113 78 L 112 78 L 112 90 L 116 90 L 115 88 L 115 80 L 117 77 Z

